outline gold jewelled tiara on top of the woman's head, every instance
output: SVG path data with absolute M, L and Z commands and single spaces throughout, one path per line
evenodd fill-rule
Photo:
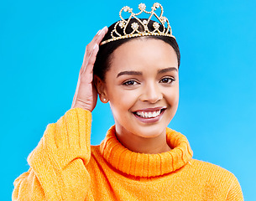
M 101 45 L 107 44 L 111 41 L 118 40 L 118 39 L 127 39 L 127 38 L 149 36 L 149 35 L 167 36 L 175 39 L 175 37 L 172 35 L 168 18 L 165 18 L 163 16 L 164 8 L 160 3 L 154 3 L 153 6 L 151 7 L 150 12 L 146 11 L 146 5 L 144 3 L 138 4 L 138 9 L 140 10 L 138 13 L 133 13 L 133 8 L 129 8 L 128 6 L 123 7 L 119 12 L 119 17 L 121 18 L 121 20 L 115 23 L 114 28 L 111 32 L 112 39 L 107 39 L 102 41 Z M 157 13 L 155 13 L 157 9 L 160 9 L 161 11 L 159 16 L 157 15 Z M 122 16 L 123 12 L 130 13 L 130 17 L 128 19 L 124 19 Z M 149 14 L 149 18 L 148 19 L 138 18 L 137 16 L 140 15 L 141 13 Z M 149 22 L 152 17 L 157 18 L 159 20 L 159 23 L 154 22 L 153 23 L 154 30 L 150 31 Z M 127 28 L 132 18 L 135 19 L 135 22 L 130 25 L 133 31 L 131 33 L 127 33 Z M 139 24 L 143 27 L 143 30 L 138 30 Z M 162 25 L 162 28 L 160 28 L 161 25 Z M 121 28 L 121 31 L 120 31 L 120 28 Z

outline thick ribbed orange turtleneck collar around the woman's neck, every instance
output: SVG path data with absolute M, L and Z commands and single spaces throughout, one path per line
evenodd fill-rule
M 119 171 L 135 177 L 156 177 L 182 168 L 193 155 L 185 136 L 166 128 L 166 137 L 168 145 L 172 148 L 170 152 L 158 154 L 132 152 L 118 141 L 115 126 L 112 126 L 107 131 L 100 149 L 105 160 Z

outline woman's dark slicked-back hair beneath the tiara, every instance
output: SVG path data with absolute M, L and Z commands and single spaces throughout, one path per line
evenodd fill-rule
M 141 19 L 143 21 L 144 18 Z M 132 18 L 130 22 L 128 23 L 128 26 L 126 28 L 126 33 L 131 33 L 133 29 L 131 28 L 131 24 L 134 22 L 138 22 L 136 19 Z M 153 31 L 153 20 L 149 21 L 149 31 Z M 113 23 L 107 31 L 107 34 L 105 35 L 104 39 L 102 41 L 107 40 L 107 39 L 112 39 L 111 32 L 114 29 L 116 23 Z M 159 30 L 163 30 L 163 26 L 159 24 Z M 119 26 L 117 26 L 117 31 L 118 33 L 123 33 L 123 29 L 121 29 Z M 144 31 L 144 26 L 140 23 L 138 23 L 138 31 Z M 160 39 L 165 41 L 165 43 L 170 44 L 170 46 L 175 49 L 175 53 L 177 54 L 177 59 L 178 59 L 178 67 L 180 67 L 180 49 L 179 46 L 175 40 L 175 38 L 167 37 L 167 36 L 143 36 L 146 39 Z M 118 39 L 112 42 L 109 42 L 107 44 L 102 44 L 100 45 L 99 51 L 97 53 L 97 59 L 94 64 L 93 68 L 93 74 L 97 75 L 101 80 L 105 80 L 105 75 L 107 70 L 109 70 L 110 64 L 111 64 L 111 59 L 112 59 L 112 53 L 115 49 L 118 49 L 119 46 L 122 44 L 127 43 L 128 41 L 132 39 L 138 39 L 138 37 L 134 38 L 128 38 L 128 39 Z

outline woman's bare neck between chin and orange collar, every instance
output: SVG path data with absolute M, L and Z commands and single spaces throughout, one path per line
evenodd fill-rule
M 171 148 L 166 142 L 166 133 L 163 131 L 156 137 L 140 137 L 133 133 L 124 133 L 116 128 L 118 141 L 132 152 L 157 154 L 169 152 Z

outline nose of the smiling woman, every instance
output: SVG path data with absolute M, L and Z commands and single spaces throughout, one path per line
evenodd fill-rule
M 150 103 L 156 103 L 163 98 L 163 94 L 159 89 L 157 83 L 149 83 L 142 89 L 142 95 L 140 101 L 149 101 Z

